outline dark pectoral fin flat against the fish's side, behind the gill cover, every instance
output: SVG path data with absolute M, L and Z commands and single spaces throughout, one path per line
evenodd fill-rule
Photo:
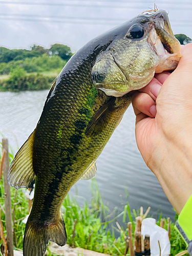
M 115 97 L 111 97 L 110 100 L 102 106 L 102 108 L 95 114 L 90 120 L 86 129 L 86 135 L 88 137 L 99 135 L 104 127 L 110 122 L 111 115 L 114 111 Z

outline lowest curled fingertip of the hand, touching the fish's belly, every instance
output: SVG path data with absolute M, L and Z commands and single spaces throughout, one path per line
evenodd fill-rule
M 141 113 L 149 117 L 156 116 L 156 103 L 150 95 L 136 92 L 132 96 L 132 104 L 136 116 Z

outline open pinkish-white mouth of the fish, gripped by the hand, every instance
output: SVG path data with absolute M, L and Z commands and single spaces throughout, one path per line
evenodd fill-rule
M 147 38 L 153 52 L 159 57 L 155 73 L 165 70 L 175 70 L 181 58 L 180 42 L 174 37 L 165 11 L 159 12 L 156 18 L 151 18 L 150 32 Z

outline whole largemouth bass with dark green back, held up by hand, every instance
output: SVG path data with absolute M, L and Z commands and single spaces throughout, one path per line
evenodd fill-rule
M 156 11 L 96 37 L 68 61 L 9 170 L 16 188 L 35 179 L 24 256 L 44 255 L 49 241 L 66 244 L 60 208 L 68 191 L 95 176 L 95 161 L 130 105 L 131 91 L 146 86 L 155 72 L 174 70 L 180 57 L 167 13 Z

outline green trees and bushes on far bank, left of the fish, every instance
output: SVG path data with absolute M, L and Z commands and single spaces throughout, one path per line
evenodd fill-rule
M 31 50 L 0 47 L 0 91 L 50 89 L 72 55 L 70 47 L 60 44 Z

